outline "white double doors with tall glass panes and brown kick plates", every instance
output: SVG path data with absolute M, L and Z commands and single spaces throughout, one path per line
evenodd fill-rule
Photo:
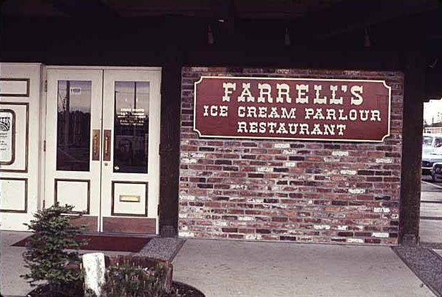
M 47 69 L 45 204 L 158 233 L 160 69 Z

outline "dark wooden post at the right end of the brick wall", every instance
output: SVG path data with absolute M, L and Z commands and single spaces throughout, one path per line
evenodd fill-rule
M 399 240 L 402 245 L 416 245 L 419 243 L 422 129 L 425 100 L 424 67 L 424 59 L 420 52 L 407 52 L 405 54 L 399 216 Z

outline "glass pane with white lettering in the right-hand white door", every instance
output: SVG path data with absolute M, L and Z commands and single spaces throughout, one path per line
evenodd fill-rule
M 147 173 L 149 82 L 115 82 L 114 172 Z

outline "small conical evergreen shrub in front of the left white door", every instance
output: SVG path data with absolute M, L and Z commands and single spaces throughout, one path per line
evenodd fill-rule
M 72 226 L 71 219 L 78 216 L 63 215 L 71 213 L 72 209 L 74 206 L 54 204 L 37 211 L 35 219 L 25 223 L 33 235 L 23 252 L 25 267 L 30 273 L 22 277 L 31 286 L 47 281 L 51 291 L 48 296 L 73 296 L 72 292 L 83 290 L 78 249 L 86 243 L 77 243 L 74 238 L 85 226 Z

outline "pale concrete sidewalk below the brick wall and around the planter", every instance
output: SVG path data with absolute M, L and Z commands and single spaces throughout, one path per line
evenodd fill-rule
M 1 293 L 24 296 L 24 248 L 11 245 L 29 233 L 0 235 Z M 173 265 L 207 297 L 434 296 L 388 247 L 190 239 Z

